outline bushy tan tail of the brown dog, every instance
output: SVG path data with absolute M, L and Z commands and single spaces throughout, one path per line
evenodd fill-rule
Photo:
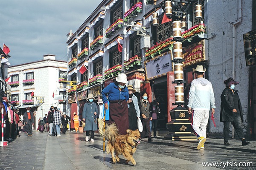
M 114 143 L 116 142 L 116 137 L 119 136 L 119 130 L 116 126 L 116 123 L 112 123 L 111 125 L 106 125 L 106 130 L 103 134 L 103 137 L 107 139 L 112 146 L 114 146 Z

